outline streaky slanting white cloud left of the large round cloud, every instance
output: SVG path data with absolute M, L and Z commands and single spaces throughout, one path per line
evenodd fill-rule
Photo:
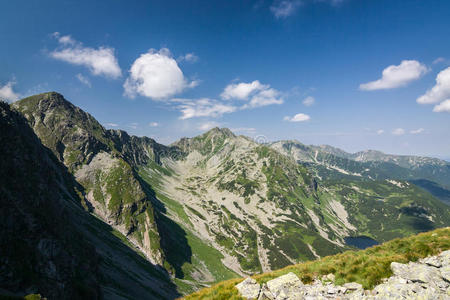
M 50 57 L 68 62 L 73 65 L 85 66 L 94 75 L 103 75 L 111 78 L 119 78 L 122 70 L 114 55 L 114 48 L 99 47 L 98 49 L 84 47 L 82 43 L 73 40 L 70 36 L 59 36 L 60 47 L 50 52 Z

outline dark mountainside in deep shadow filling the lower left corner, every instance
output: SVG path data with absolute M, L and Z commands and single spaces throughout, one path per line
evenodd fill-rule
M 170 277 L 89 214 L 84 187 L 0 102 L 0 298 L 173 299 Z M 95 158 L 94 158 L 95 159 Z

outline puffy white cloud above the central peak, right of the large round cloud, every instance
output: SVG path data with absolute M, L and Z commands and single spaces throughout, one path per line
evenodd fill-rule
M 268 84 L 261 84 L 258 80 L 246 83 L 233 83 L 225 87 L 220 95 L 225 100 L 247 101 L 241 109 L 255 108 L 272 104 L 282 104 L 281 93 Z

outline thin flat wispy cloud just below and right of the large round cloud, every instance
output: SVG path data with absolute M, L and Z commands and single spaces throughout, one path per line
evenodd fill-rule
M 220 117 L 226 113 L 236 111 L 236 107 L 223 104 L 214 99 L 173 99 L 174 102 L 180 104 L 177 108 L 181 111 L 181 120 L 196 117 Z

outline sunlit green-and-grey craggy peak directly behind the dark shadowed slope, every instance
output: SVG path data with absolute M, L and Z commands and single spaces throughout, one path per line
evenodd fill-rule
M 105 130 L 58 93 L 25 98 L 14 108 L 83 186 L 85 207 L 127 236 L 151 262 L 164 265 L 153 206 L 132 166 L 141 162 L 139 155 L 150 154 L 152 144 L 133 151 L 139 147 L 134 139 Z

